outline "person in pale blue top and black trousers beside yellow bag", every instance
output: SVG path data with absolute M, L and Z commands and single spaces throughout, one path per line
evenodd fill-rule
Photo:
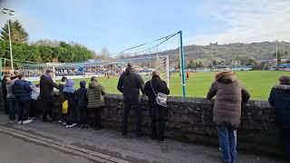
M 67 125 L 65 128 L 73 128 L 77 126 L 77 111 L 76 111 L 76 102 L 75 102 L 75 90 L 73 88 L 74 82 L 69 79 L 65 83 L 63 88 L 63 98 L 64 101 L 68 101 L 68 112 L 67 112 Z

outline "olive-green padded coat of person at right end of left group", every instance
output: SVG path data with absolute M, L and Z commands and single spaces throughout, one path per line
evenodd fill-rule
M 90 82 L 87 89 L 88 108 L 100 108 L 105 106 L 103 96 L 106 94 L 102 85 L 98 82 Z

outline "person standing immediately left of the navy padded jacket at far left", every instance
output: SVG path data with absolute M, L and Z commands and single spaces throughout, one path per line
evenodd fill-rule
M 14 82 L 18 79 L 16 75 L 11 75 L 11 80 L 6 83 L 6 90 L 7 90 L 7 101 L 9 102 L 9 120 L 15 120 L 15 113 L 17 109 L 17 102 L 14 100 L 13 94 L 13 86 Z

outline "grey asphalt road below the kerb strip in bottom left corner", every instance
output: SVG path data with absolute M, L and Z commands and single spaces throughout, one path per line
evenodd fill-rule
M 91 160 L 73 156 L 57 149 L 14 138 L 0 132 L 1 163 L 92 163 Z

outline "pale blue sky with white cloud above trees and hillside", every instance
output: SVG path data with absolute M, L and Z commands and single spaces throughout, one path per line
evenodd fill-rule
M 178 31 L 183 43 L 290 42 L 290 0 L 0 0 L 29 41 L 81 43 L 111 53 Z M 7 21 L 0 14 L 0 26 Z M 179 46 L 169 43 L 166 48 Z

